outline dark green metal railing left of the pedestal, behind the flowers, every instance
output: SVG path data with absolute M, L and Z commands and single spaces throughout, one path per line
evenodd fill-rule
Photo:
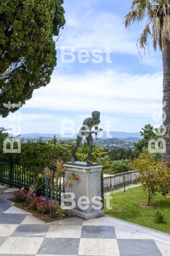
M 53 172 L 55 171 L 55 166 L 52 168 Z M 23 166 L 20 163 L 17 163 L 17 161 L 13 159 L 3 159 L 0 158 L 0 183 L 8 184 L 10 187 L 15 186 L 17 188 L 24 187 L 25 189 L 29 189 L 33 184 L 34 176 L 30 172 L 28 172 L 26 169 L 23 168 Z M 57 197 L 59 199 L 61 198 L 61 193 L 65 192 L 62 183 L 65 182 L 65 173 L 63 173 L 62 176 L 59 177 L 59 188 L 57 192 Z M 39 181 L 38 187 L 40 189 L 37 191 L 38 194 L 45 196 L 46 195 L 46 186 L 44 180 Z M 50 197 L 50 190 L 48 190 L 48 194 Z

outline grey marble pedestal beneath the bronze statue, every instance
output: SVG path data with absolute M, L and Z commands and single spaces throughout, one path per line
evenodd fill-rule
M 100 207 L 99 204 L 95 204 L 93 198 L 94 196 L 101 197 L 101 172 L 103 166 L 99 164 L 89 165 L 85 162 L 79 161 L 76 161 L 75 163 L 67 162 L 63 166 L 67 168 L 66 182 L 68 181 L 68 175 L 70 172 L 75 172 L 78 177 L 77 181 L 68 181 L 68 183 L 73 183 L 74 186 L 72 189 L 66 189 L 66 192 L 72 192 L 75 194 L 75 198 L 73 200 L 75 201 L 76 205 L 74 209 L 69 209 L 69 204 L 67 203 L 63 211 L 87 220 L 103 216 L 104 211 L 101 209 L 102 207 Z M 87 206 L 89 206 L 85 210 L 79 208 L 78 206 L 78 199 L 82 196 L 89 199 L 89 203 L 88 200 L 81 199 L 83 202 L 87 201 L 87 203 L 82 204 L 83 207 L 86 206 L 87 208 Z M 66 198 L 70 198 L 70 195 L 66 195 Z M 96 201 L 101 202 L 102 200 L 96 199 Z M 93 207 L 98 207 L 100 209 L 96 210 L 93 209 Z

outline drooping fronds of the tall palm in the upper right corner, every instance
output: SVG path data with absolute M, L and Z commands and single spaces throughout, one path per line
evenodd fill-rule
M 162 50 L 161 37 L 170 41 L 170 1 L 169 0 L 133 0 L 130 12 L 125 17 L 125 27 L 131 23 L 143 21 L 147 18 L 141 37 L 138 39 L 140 48 L 149 46 L 148 36 L 153 38 L 153 48 L 157 45 Z M 149 25 L 152 26 L 152 33 Z

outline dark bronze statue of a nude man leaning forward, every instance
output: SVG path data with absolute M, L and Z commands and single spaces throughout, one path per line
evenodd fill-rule
M 102 129 L 98 129 L 98 125 L 100 123 L 100 112 L 99 111 L 93 111 L 92 118 L 86 118 L 83 122 L 82 127 L 79 130 L 79 133 L 76 138 L 76 145 L 73 147 L 73 152 L 71 156 L 71 162 L 75 163 L 75 154 L 77 148 L 80 146 L 81 141 L 85 135 L 85 138 L 89 145 L 88 155 L 87 155 L 87 164 L 93 164 L 90 162 L 90 157 L 92 155 L 93 151 L 93 137 L 92 134 L 95 133 L 95 137 L 97 139 L 97 133 L 102 132 Z M 94 131 L 92 131 L 92 128 L 95 128 Z

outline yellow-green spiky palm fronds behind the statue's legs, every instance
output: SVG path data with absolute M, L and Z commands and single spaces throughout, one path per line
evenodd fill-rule
M 99 147 L 99 146 L 93 145 L 93 151 L 92 151 L 90 161 L 92 161 L 93 163 L 96 163 L 98 157 L 108 154 L 108 152 L 102 151 L 103 147 L 104 146 Z M 83 146 L 78 147 L 76 151 L 76 157 L 80 161 L 85 162 L 85 160 L 87 159 L 88 149 L 89 149 L 89 145 L 87 142 L 85 142 Z

